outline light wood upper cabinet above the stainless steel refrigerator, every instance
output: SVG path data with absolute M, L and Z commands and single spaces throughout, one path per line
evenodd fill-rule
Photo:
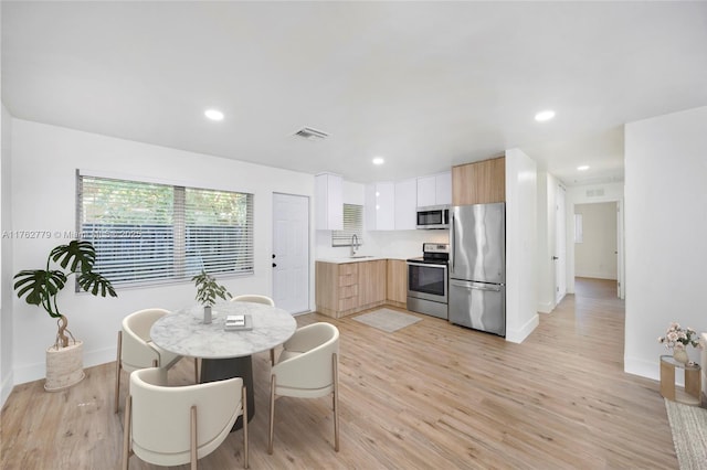
M 506 201 L 506 158 L 452 168 L 452 204 L 487 204 Z

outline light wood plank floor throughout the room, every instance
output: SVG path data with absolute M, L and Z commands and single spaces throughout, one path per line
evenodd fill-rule
M 329 399 L 281 398 L 267 455 L 264 353 L 254 357 L 251 468 L 676 469 L 657 382 L 623 373 L 615 284 L 578 279 L 577 291 L 541 314 L 523 344 L 426 316 L 392 334 L 351 318 L 298 317 L 341 332 L 341 450 L 333 448 Z M 190 383 L 192 367 L 182 360 L 170 381 Z M 86 372 L 66 392 L 45 393 L 42 382 L 14 388 L 1 415 L 2 469 L 118 467 L 114 364 Z M 241 431 L 199 463 L 241 468 Z M 158 467 L 133 457 L 130 468 Z

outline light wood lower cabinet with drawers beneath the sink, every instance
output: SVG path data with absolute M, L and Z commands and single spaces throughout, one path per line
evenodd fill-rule
M 341 318 L 386 303 L 387 260 L 316 263 L 317 311 Z

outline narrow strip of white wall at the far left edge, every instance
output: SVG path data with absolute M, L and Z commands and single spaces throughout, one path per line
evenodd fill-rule
M 0 109 L 0 232 L 12 232 L 12 185 L 10 149 L 12 118 L 4 106 Z M 12 238 L 0 241 L 0 407 L 12 392 Z

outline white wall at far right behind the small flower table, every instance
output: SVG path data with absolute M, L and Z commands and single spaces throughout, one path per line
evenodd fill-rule
M 672 321 L 707 331 L 706 130 L 707 107 L 625 127 L 624 370 L 633 374 L 659 376 L 666 350 L 656 338 Z

